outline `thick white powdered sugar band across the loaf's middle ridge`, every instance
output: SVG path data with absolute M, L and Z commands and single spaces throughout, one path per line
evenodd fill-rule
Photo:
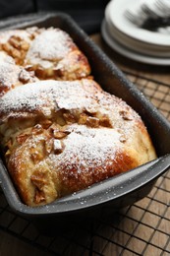
M 24 85 L 2 96 L 0 113 L 41 111 L 44 107 L 50 111 L 57 107 L 75 109 L 92 105 L 92 96 L 87 96 L 81 85 L 81 81 L 50 80 Z

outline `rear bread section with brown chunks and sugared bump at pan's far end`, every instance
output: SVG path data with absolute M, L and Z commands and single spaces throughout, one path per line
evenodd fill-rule
M 41 80 L 76 80 L 90 74 L 85 54 L 60 29 L 0 32 L 0 50 L 14 58 L 17 65 L 35 72 Z

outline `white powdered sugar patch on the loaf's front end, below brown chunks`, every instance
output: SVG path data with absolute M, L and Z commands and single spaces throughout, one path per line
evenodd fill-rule
M 103 165 L 106 160 L 114 160 L 115 152 L 121 149 L 120 134 L 113 129 L 73 126 L 72 133 L 64 140 L 66 148 L 60 155 L 50 155 L 50 160 L 60 168 L 82 169 Z

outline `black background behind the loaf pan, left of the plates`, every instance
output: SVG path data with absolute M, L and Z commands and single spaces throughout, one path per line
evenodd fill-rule
M 85 32 L 99 32 L 109 0 L 0 0 L 0 19 L 41 11 L 60 11 L 72 18 Z

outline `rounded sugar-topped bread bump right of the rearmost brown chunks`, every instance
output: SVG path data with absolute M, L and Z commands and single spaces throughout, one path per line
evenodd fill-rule
M 90 67 L 84 53 L 67 32 L 48 29 L 30 43 L 25 64 L 41 79 L 76 80 L 87 77 Z

